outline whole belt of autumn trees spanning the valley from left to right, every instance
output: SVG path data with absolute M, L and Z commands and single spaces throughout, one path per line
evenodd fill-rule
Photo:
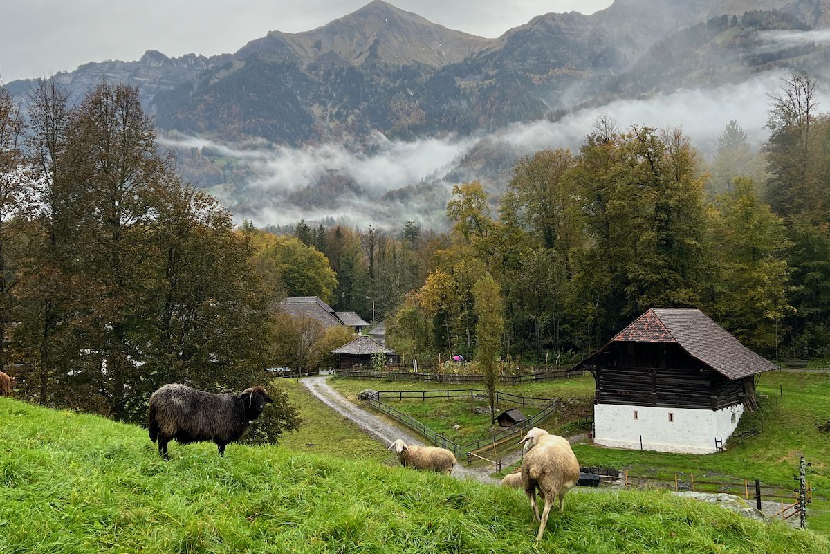
M 403 362 L 426 367 L 567 366 L 658 306 L 700 308 L 771 358 L 826 358 L 815 86 L 789 76 L 757 152 L 734 121 L 707 161 L 680 129 L 602 116 L 577 151 L 518 160 L 497 197 L 455 185 L 448 231 L 283 235 L 235 226 L 183 182 L 137 89 L 103 83 L 71 106 L 44 81 L 25 114 L 0 90 L 0 365 L 23 397 L 141 420 L 166 382 L 239 390 L 265 367 L 330 363 L 348 338 L 286 322 L 272 308 L 294 295 L 386 320 Z

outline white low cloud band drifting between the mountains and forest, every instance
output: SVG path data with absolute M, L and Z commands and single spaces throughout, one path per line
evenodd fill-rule
M 781 35 L 775 40 L 794 39 Z M 247 218 L 257 225 L 284 225 L 298 221 L 300 217 L 319 220 L 331 216 L 348 218 L 359 226 L 369 222 L 395 226 L 408 220 L 441 226 L 443 203 L 454 184 L 448 175 L 464 180 L 492 181 L 496 178 L 494 175 L 474 175 L 460 167 L 461 160 L 482 139 L 505 144 L 505 148 L 517 155 L 541 148 L 575 149 L 593 129 L 598 114 L 608 114 L 621 129 L 632 124 L 661 129 L 681 127 L 692 143 L 707 154 L 714 153 L 725 124 L 735 119 L 757 148 L 768 136 L 764 124 L 768 117 L 769 95 L 780 92 L 784 76 L 780 72 L 767 72 L 740 85 L 678 90 L 648 100 L 616 100 L 597 108 L 579 109 L 554 122 L 540 120 L 511 124 L 495 133 L 473 137 L 448 136 L 407 142 L 389 140 L 378 133 L 354 148 L 335 143 L 304 148 L 263 147 L 261 144 L 243 147 L 193 137 L 164 139 L 162 143 L 171 148 L 209 149 L 251 168 L 255 177 L 246 187 L 237 187 L 234 194 L 245 194 L 248 190 L 256 198 L 266 200 L 258 200 L 256 208 L 251 208 L 248 202 L 249 207 L 237 210 L 235 204 L 245 202 L 237 202 L 238 198 L 223 198 L 239 221 Z M 828 104 L 826 95 L 818 100 L 820 104 Z M 354 184 L 342 197 L 330 199 L 337 209 L 300 207 L 289 200 L 292 192 L 317 187 L 333 174 Z M 378 197 L 386 192 L 417 183 L 427 185 L 418 192 L 395 194 L 378 201 Z M 505 183 L 495 184 L 495 188 L 500 188 Z M 355 188 L 358 192 L 354 192 Z

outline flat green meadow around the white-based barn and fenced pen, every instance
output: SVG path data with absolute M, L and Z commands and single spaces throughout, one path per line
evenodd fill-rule
M 358 381 L 337 378 L 332 386 L 353 398 L 364 388 L 376 390 L 446 390 L 463 388 L 408 381 Z M 500 391 L 525 396 L 544 396 L 571 401 L 574 406 L 591 409 L 593 377 L 586 375 L 576 379 L 541 381 L 516 386 L 500 386 Z M 784 396 L 776 398 L 776 391 Z M 619 450 L 593 445 L 581 440 L 574 445 L 574 452 L 583 466 L 628 469 L 632 474 L 673 481 L 678 474 L 681 481 L 696 479 L 761 479 L 775 485 L 793 484 L 798 474 L 798 458 L 804 455 L 808 463 L 808 480 L 816 489 L 813 504 L 808 510 L 808 526 L 830 534 L 830 434 L 818 430 L 818 425 L 830 420 L 830 375 L 814 373 L 767 372 L 760 377 L 759 394 L 767 396 L 760 402 L 760 410 L 741 419 L 737 434 L 759 430 L 763 419 L 764 430 L 746 438 L 733 438 L 727 449 L 716 454 L 671 454 L 641 450 Z M 390 404 L 406 411 L 408 404 L 418 420 L 433 430 L 452 429 L 457 421 L 468 416 L 469 401 L 390 401 Z M 480 403 L 483 405 L 483 403 Z M 534 413 L 528 410 L 525 415 Z M 552 432 L 573 436 L 589 430 L 580 425 L 576 413 L 564 413 L 559 418 L 551 416 L 545 425 Z M 463 424 L 461 424 L 463 425 Z M 478 432 L 490 427 L 489 416 L 479 416 Z M 506 454 L 502 450 L 499 455 Z

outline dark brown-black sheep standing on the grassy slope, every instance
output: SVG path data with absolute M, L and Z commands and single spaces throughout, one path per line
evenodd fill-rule
M 211 394 L 184 385 L 164 385 L 150 396 L 150 440 L 159 442 L 159 454 L 168 459 L 167 444 L 178 440 L 186 445 L 209 440 L 225 454 L 225 446 L 238 440 L 272 402 L 261 386 L 242 394 Z

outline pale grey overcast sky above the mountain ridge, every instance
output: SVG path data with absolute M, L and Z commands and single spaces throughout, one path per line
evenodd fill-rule
M 325 25 L 369 0 L 0 0 L 0 80 L 48 76 L 87 61 L 237 51 L 268 31 Z M 595 12 L 612 0 L 393 0 L 445 27 L 499 36 L 547 12 Z

